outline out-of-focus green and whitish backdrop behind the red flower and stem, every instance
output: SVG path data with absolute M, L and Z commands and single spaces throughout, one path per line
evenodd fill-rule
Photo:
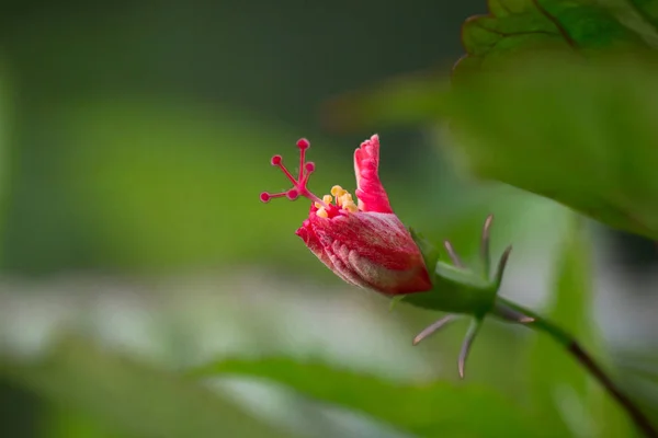
M 373 132 L 336 129 L 327 102 L 447 74 L 463 21 L 484 12 L 483 0 L 4 4 L 0 436 L 494 437 L 523 422 L 531 436 L 632 436 L 549 339 L 496 322 L 457 382 L 466 322 L 411 347 L 439 315 L 389 312 L 342 284 L 294 235 L 306 203 L 258 200 L 286 187 L 269 160 L 296 159 L 299 137 L 316 192 L 353 189 L 352 151 Z M 495 251 L 514 244 L 502 293 L 581 334 L 658 419 L 655 245 L 587 222 L 594 251 L 569 270 L 571 212 L 461 171 L 440 124 L 377 131 L 400 218 L 472 261 L 495 212 Z M 207 384 L 180 377 L 207 362 L 220 374 Z

